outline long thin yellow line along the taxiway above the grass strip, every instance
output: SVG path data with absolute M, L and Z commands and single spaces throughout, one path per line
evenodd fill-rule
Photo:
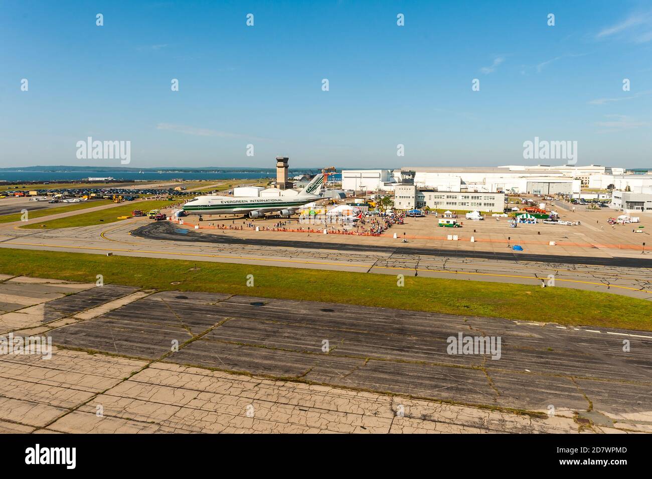
M 367 265 L 347 265 L 344 263 L 327 263 L 323 261 L 300 261 L 297 259 L 274 259 L 274 258 L 261 258 L 261 257 L 242 257 L 242 256 L 232 256 L 232 255 L 218 255 L 218 254 L 201 254 L 201 253 L 179 253 L 179 252 L 164 252 L 164 251 L 147 251 L 147 250 L 124 250 L 119 248 L 95 248 L 94 246 L 64 246 L 60 244 L 38 244 L 38 243 L 19 243 L 11 242 L 5 243 L 7 245 L 19 244 L 22 246 L 48 246 L 50 248 L 69 248 L 75 250 L 100 250 L 100 251 L 111 251 L 111 252 L 125 252 L 125 253 L 144 253 L 144 254 L 164 254 L 170 256 L 194 256 L 194 257 L 212 257 L 212 258 L 224 258 L 224 259 L 241 259 L 246 261 L 271 261 L 277 263 L 299 263 L 303 265 L 321 265 L 321 266 L 337 266 L 337 267 L 353 267 L 353 268 L 367 268 Z M 437 272 L 437 273 L 446 273 L 446 274 L 469 274 L 474 276 L 492 276 L 497 278 L 519 278 L 524 280 L 541 280 L 542 278 L 537 278 L 536 276 L 519 276 L 516 274 L 497 274 L 497 273 L 479 273 L 479 272 L 464 272 L 464 271 L 449 271 L 449 270 L 437 270 L 437 269 L 415 269 L 415 268 L 404 268 L 396 266 L 374 266 L 377 269 L 393 269 L 393 270 L 405 270 L 405 271 L 422 271 L 422 272 Z M 630 291 L 640 291 L 641 293 L 652 293 L 647 289 L 638 289 L 632 288 L 629 286 L 619 286 L 615 284 L 604 284 L 596 283 L 590 281 L 582 280 L 563 280 L 561 278 L 555 278 L 555 281 L 563 281 L 569 283 L 582 283 L 582 284 L 591 284 L 604 287 L 614 287 L 619 289 L 629 289 Z

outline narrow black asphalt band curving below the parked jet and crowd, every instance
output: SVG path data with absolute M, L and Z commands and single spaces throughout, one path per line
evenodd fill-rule
M 499 261 L 528 261 L 534 263 L 560 263 L 563 265 L 593 265 L 607 267 L 652 268 L 652 259 L 630 257 L 591 257 L 522 254 L 513 252 L 482 252 L 467 250 L 443 250 L 439 248 L 411 248 L 409 246 L 371 246 L 368 244 L 333 244 L 327 242 L 244 239 L 230 235 L 198 234 L 194 231 L 180 234 L 181 229 L 168 222 L 156 222 L 141 226 L 131 232 L 133 236 L 155 240 L 173 240 L 185 242 L 208 242 L 215 244 L 242 244 L 247 246 L 267 246 L 276 248 L 302 248 L 310 250 L 336 250 L 338 252 L 372 252 L 382 254 L 402 254 L 421 256 L 469 257 L 493 259 Z

